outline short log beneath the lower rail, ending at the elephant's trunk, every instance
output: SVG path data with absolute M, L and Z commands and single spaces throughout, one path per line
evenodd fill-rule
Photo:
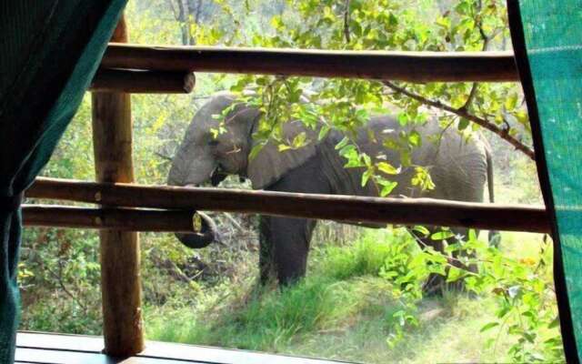
M 135 208 L 89 208 L 50 205 L 24 205 L 27 227 L 75 227 L 121 231 L 192 233 L 195 211 Z

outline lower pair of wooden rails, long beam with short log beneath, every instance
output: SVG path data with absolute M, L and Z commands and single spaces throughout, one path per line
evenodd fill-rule
M 322 218 L 353 224 L 435 225 L 549 232 L 544 207 L 480 204 L 431 198 L 355 197 L 200 187 L 103 184 L 38 178 L 27 197 L 109 207 L 25 206 L 25 225 L 192 232 L 195 210 Z M 166 210 L 152 210 L 165 208 Z M 181 211 L 176 211 L 181 210 Z M 30 211 L 30 214 L 26 213 Z

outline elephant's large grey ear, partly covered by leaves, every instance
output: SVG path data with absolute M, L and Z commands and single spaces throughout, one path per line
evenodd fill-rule
M 279 151 L 280 143 L 269 140 L 255 157 L 249 157 L 246 172 L 254 189 L 269 187 L 291 169 L 316 155 L 317 133 L 314 130 L 306 128 L 300 121 L 288 122 L 283 126 L 282 136 L 289 142 L 301 133 L 306 134 L 306 145 L 303 147 Z

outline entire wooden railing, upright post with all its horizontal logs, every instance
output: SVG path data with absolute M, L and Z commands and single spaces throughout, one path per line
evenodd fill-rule
M 113 40 L 126 40 L 123 19 Z M 90 87 L 95 92 L 95 169 L 103 183 L 39 178 L 26 192 L 26 197 L 86 202 L 102 207 L 23 207 L 25 226 L 98 228 L 104 232 L 101 254 L 106 353 L 124 357 L 143 349 L 139 244 L 129 232 L 193 231 L 195 209 L 327 218 L 350 223 L 549 231 L 543 207 L 115 183 L 131 182 L 133 178 L 130 100 L 125 93 L 188 93 L 195 86 L 193 72 L 417 83 L 518 80 L 514 58 L 509 52 L 348 52 L 110 44 Z M 119 157 L 120 153 L 126 154 L 125 162 L 114 163 L 111 155 Z M 119 282 L 123 288 L 117 287 Z

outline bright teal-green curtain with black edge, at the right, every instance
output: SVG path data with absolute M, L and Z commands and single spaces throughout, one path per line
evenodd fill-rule
M 553 218 L 567 362 L 582 349 L 582 0 L 507 0 L 537 168 Z

